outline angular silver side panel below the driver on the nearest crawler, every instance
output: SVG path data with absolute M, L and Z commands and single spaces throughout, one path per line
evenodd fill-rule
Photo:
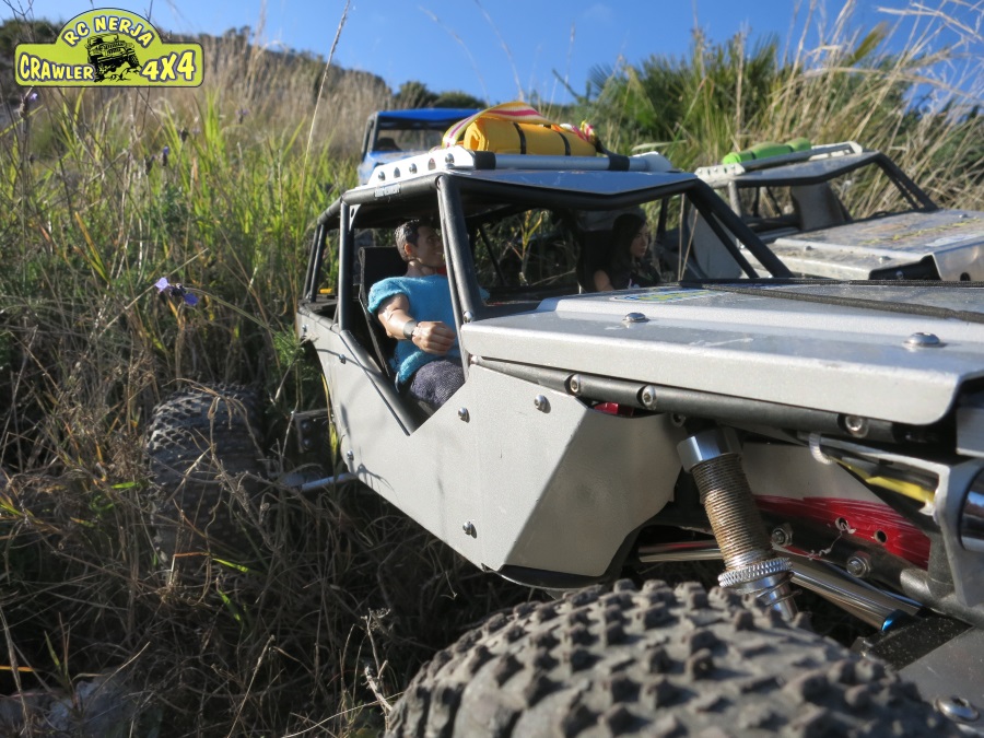
M 351 337 L 324 318 L 305 323 L 349 470 L 478 565 L 600 576 L 672 496 L 683 436 L 667 415 L 609 415 L 472 366 L 465 386 L 408 433 Z M 547 399 L 541 409 L 537 396 Z

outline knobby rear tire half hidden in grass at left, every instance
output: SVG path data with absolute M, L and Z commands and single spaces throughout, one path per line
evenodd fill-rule
M 259 395 L 238 385 L 185 389 L 154 409 L 151 524 L 165 564 L 189 552 L 248 551 L 233 500 L 248 503 L 265 488 L 260 426 Z

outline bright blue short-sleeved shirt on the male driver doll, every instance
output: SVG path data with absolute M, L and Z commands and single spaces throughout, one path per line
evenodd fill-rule
M 396 295 L 403 295 L 410 303 L 407 311 L 414 320 L 440 320 L 455 329 L 450 288 L 444 274 L 429 277 L 389 277 L 373 284 L 368 295 L 368 309 L 373 315 Z M 458 341 L 443 356 L 419 349 L 413 341 L 397 341 L 390 364 L 397 373 L 397 387 L 402 387 L 421 366 L 440 359 L 460 359 Z

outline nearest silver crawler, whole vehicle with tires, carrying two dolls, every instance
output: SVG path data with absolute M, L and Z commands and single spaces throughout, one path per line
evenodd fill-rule
M 654 250 L 677 245 L 675 281 L 594 292 L 624 212 Z M 397 390 L 367 309 L 407 270 L 393 233 L 411 219 L 443 236 L 466 376 L 438 408 Z M 379 165 L 331 203 L 304 284 L 296 330 L 348 472 L 553 596 L 435 655 L 391 735 L 984 728 L 980 286 L 797 279 L 658 154 L 459 147 Z M 167 429 L 203 430 L 207 407 L 251 462 L 242 396 L 218 397 L 157 415 L 159 466 Z M 721 574 L 670 587 L 646 579 L 659 562 Z M 866 634 L 848 648 L 804 628 L 803 589 Z

